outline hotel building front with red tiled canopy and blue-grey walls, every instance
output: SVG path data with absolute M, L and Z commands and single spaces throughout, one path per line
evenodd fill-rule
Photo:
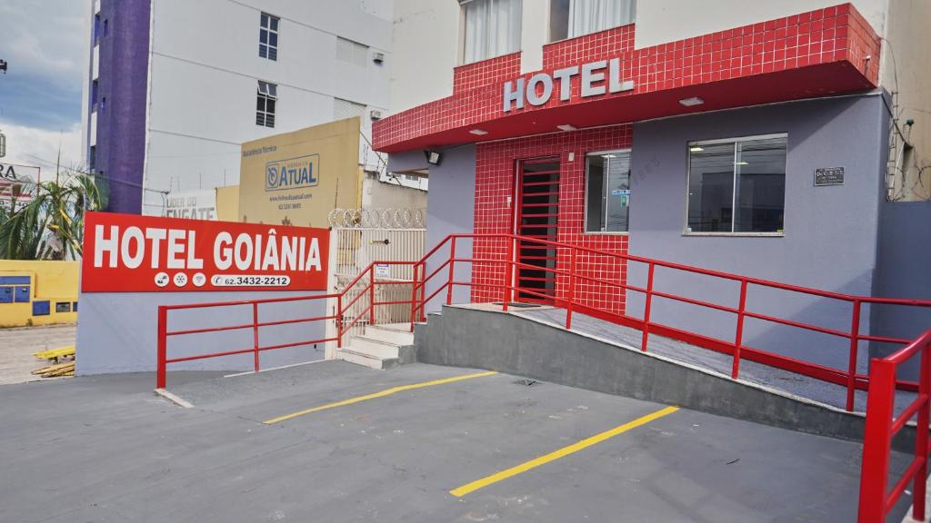
M 398 103 L 398 112 L 373 127 L 374 146 L 389 154 L 391 170 L 429 170 L 428 243 L 451 233 L 513 233 L 849 294 L 931 295 L 926 274 L 903 276 L 918 280 L 910 288 L 893 284 L 901 278 L 887 261 L 906 244 L 931 245 L 928 228 L 915 220 L 922 215 L 927 223 L 927 201 L 913 202 L 908 220 L 893 219 L 904 213 L 890 207 L 921 199 L 901 189 L 919 180 L 929 135 L 918 116 L 927 101 L 914 95 L 927 85 L 924 74 L 906 85 L 900 70 L 926 47 L 903 40 L 908 32 L 887 32 L 904 19 L 928 20 L 924 6 L 438 4 L 417 16 L 397 14 L 395 47 L 402 56 L 408 36 L 398 31 L 415 33 L 428 20 L 428 31 L 447 36 L 423 61 L 439 67 L 447 60 L 449 74 L 413 78 L 417 87 L 409 92 L 431 98 Z M 411 71 L 403 63 L 398 70 Z M 393 89 L 407 90 L 406 81 L 393 78 Z M 428 165 L 425 152 L 439 153 L 439 165 Z M 472 201 L 462 201 L 465 191 Z M 880 245 L 893 221 L 897 238 L 912 242 Z M 616 284 L 644 287 L 644 264 L 586 254 L 575 262 L 579 283 L 570 289 L 566 276 L 552 271 L 569 268 L 565 250 L 536 244 L 513 253 L 521 300 L 559 303 L 573 292 L 592 314 L 642 315 L 643 294 Z M 477 239 L 472 248 L 480 260 L 504 261 L 507 252 L 506 240 L 497 238 Z M 912 254 L 931 262 L 931 248 Z M 503 270 L 501 262 L 474 263 L 470 298 L 500 301 L 500 293 L 482 286 L 500 284 Z M 739 294 L 739 286 L 672 272 L 657 282 L 656 290 L 727 306 Z M 663 300 L 653 307 L 655 321 L 674 328 L 734 336 L 729 313 Z M 748 296 L 748 307 L 826 329 L 850 324 L 848 303 L 814 297 L 759 291 Z M 889 335 L 914 336 L 931 321 L 899 321 L 879 307 L 862 315 L 864 332 Z M 848 341 L 811 347 L 798 330 L 749 321 L 745 340 L 846 365 Z M 866 358 L 861 351 L 862 366 Z

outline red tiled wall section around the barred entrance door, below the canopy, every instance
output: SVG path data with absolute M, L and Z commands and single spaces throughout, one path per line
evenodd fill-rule
M 627 235 L 588 235 L 585 227 L 585 156 L 596 151 L 627 149 L 633 139 L 630 125 L 602 127 L 572 132 L 553 133 L 508 141 L 479 143 L 476 150 L 475 232 L 477 234 L 509 234 L 514 231 L 513 199 L 518 160 L 543 156 L 560 158 L 559 241 L 615 253 L 627 253 Z M 573 154 L 573 161 L 569 160 Z M 477 240 L 473 256 L 482 260 L 506 260 L 506 241 Z M 569 267 L 568 249 L 557 253 L 557 268 Z M 576 271 L 580 275 L 616 283 L 627 281 L 626 265 L 617 259 L 596 254 L 579 253 Z M 500 302 L 499 286 L 504 281 L 504 265 L 477 262 L 472 269 L 476 287 L 475 302 Z M 569 282 L 557 278 L 556 296 L 564 298 Z M 624 312 L 622 288 L 577 280 L 574 298 L 589 307 L 613 313 Z

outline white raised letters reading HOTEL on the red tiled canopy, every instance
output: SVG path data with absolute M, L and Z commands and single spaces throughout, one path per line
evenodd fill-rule
M 523 109 L 525 103 L 545 105 L 553 97 L 554 81 L 560 81 L 560 101 L 569 101 L 572 96 L 573 77 L 579 76 L 582 83 L 579 96 L 587 98 L 607 92 L 617 93 L 633 90 L 633 80 L 621 78 L 621 59 L 598 60 L 557 69 L 553 74 L 537 73 L 530 79 L 518 78 L 505 83 L 504 112 Z M 542 88 L 541 88 L 542 87 Z

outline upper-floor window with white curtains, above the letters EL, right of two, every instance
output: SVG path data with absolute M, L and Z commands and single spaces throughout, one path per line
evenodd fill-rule
M 637 0 L 549 0 L 549 41 L 633 23 Z

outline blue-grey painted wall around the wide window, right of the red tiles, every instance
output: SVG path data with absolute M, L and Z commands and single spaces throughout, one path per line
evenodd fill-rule
M 887 116 L 880 96 L 800 101 L 681 116 L 635 124 L 630 203 L 631 254 L 739 275 L 869 295 L 876 268 Z M 786 132 L 785 235 L 683 235 L 689 141 Z M 815 187 L 815 168 L 843 166 L 843 185 Z M 645 285 L 646 268 L 628 267 L 629 281 Z M 739 284 L 657 269 L 654 288 L 736 306 Z M 628 292 L 628 314 L 640 316 L 643 296 Z M 848 330 L 852 306 L 812 296 L 750 288 L 749 310 L 830 329 Z M 726 341 L 735 315 L 657 299 L 655 321 Z M 870 311 L 861 315 L 870 329 Z M 845 369 L 849 342 L 748 319 L 750 346 Z M 868 347 L 858 361 L 866 369 Z

